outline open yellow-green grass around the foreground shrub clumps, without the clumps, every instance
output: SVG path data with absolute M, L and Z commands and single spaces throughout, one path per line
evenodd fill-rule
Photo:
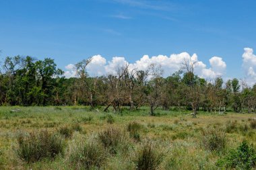
M 236 148 L 243 140 L 256 144 L 255 128 L 250 126 L 255 114 L 200 112 L 197 118 L 192 118 L 187 115 L 189 112 L 162 110 L 157 110 L 157 116 L 148 116 L 148 108 L 123 110 L 122 114 L 101 110 L 90 111 L 83 106 L 1 107 L 0 169 L 79 169 L 70 161 L 73 147 L 86 141 L 99 142 L 99 134 L 110 128 L 121 131 L 124 146 L 118 147 L 115 153 L 108 152 L 98 169 L 136 169 L 137 152 L 146 141 L 162 155 L 157 169 L 218 169 L 216 161 L 226 151 Z M 131 125 L 134 122 L 139 127 L 135 131 Z M 61 128 L 72 130 L 62 132 Z M 203 130 L 209 129 L 222 130 L 226 136 L 226 146 L 221 151 L 211 151 L 205 146 Z M 16 152 L 18 135 L 42 130 L 67 135 L 64 153 L 55 159 L 27 163 Z

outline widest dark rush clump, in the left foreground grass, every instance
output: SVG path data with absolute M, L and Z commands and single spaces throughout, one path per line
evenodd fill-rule
M 16 151 L 20 159 L 32 163 L 44 158 L 54 159 L 57 155 L 62 155 L 64 146 L 61 136 L 43 130 L 27 135 L 20 134 Z

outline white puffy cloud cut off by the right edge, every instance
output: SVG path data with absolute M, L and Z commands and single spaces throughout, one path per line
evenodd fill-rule
M 256 55 L 253 54 L 252 48 L 244 48 L 243 68 L 246 73 L 246 80 L 249 85 L 256 83 Z

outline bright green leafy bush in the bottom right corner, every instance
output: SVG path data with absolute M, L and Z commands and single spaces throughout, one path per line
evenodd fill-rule
M 243 141 L 236 149 L 219 159 L 216 163 L 225 169 L 255 169 L 256 168 L 256 148 Z

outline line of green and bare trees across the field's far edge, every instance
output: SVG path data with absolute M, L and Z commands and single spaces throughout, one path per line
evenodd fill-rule
M 101 105 L 117 113 L 123 106 L 139 110 L 148 105 L 151 115 L 157 108 L 191 110 L 193 116 L 199 110 L 223 114 L 227 108 L 256 112 L 256 84 L 221 77 L 206 81 L 195 75 L 195 61 L 184 60 L 180 71 L 164 78 L 158 65 L 146 71 L 125 65 L 115 74 L 90 77 L 91 60 L 78 62 L 77 77 L 66 78 L 52 58 L 8 56 L 1 62 L 0 105 Z

